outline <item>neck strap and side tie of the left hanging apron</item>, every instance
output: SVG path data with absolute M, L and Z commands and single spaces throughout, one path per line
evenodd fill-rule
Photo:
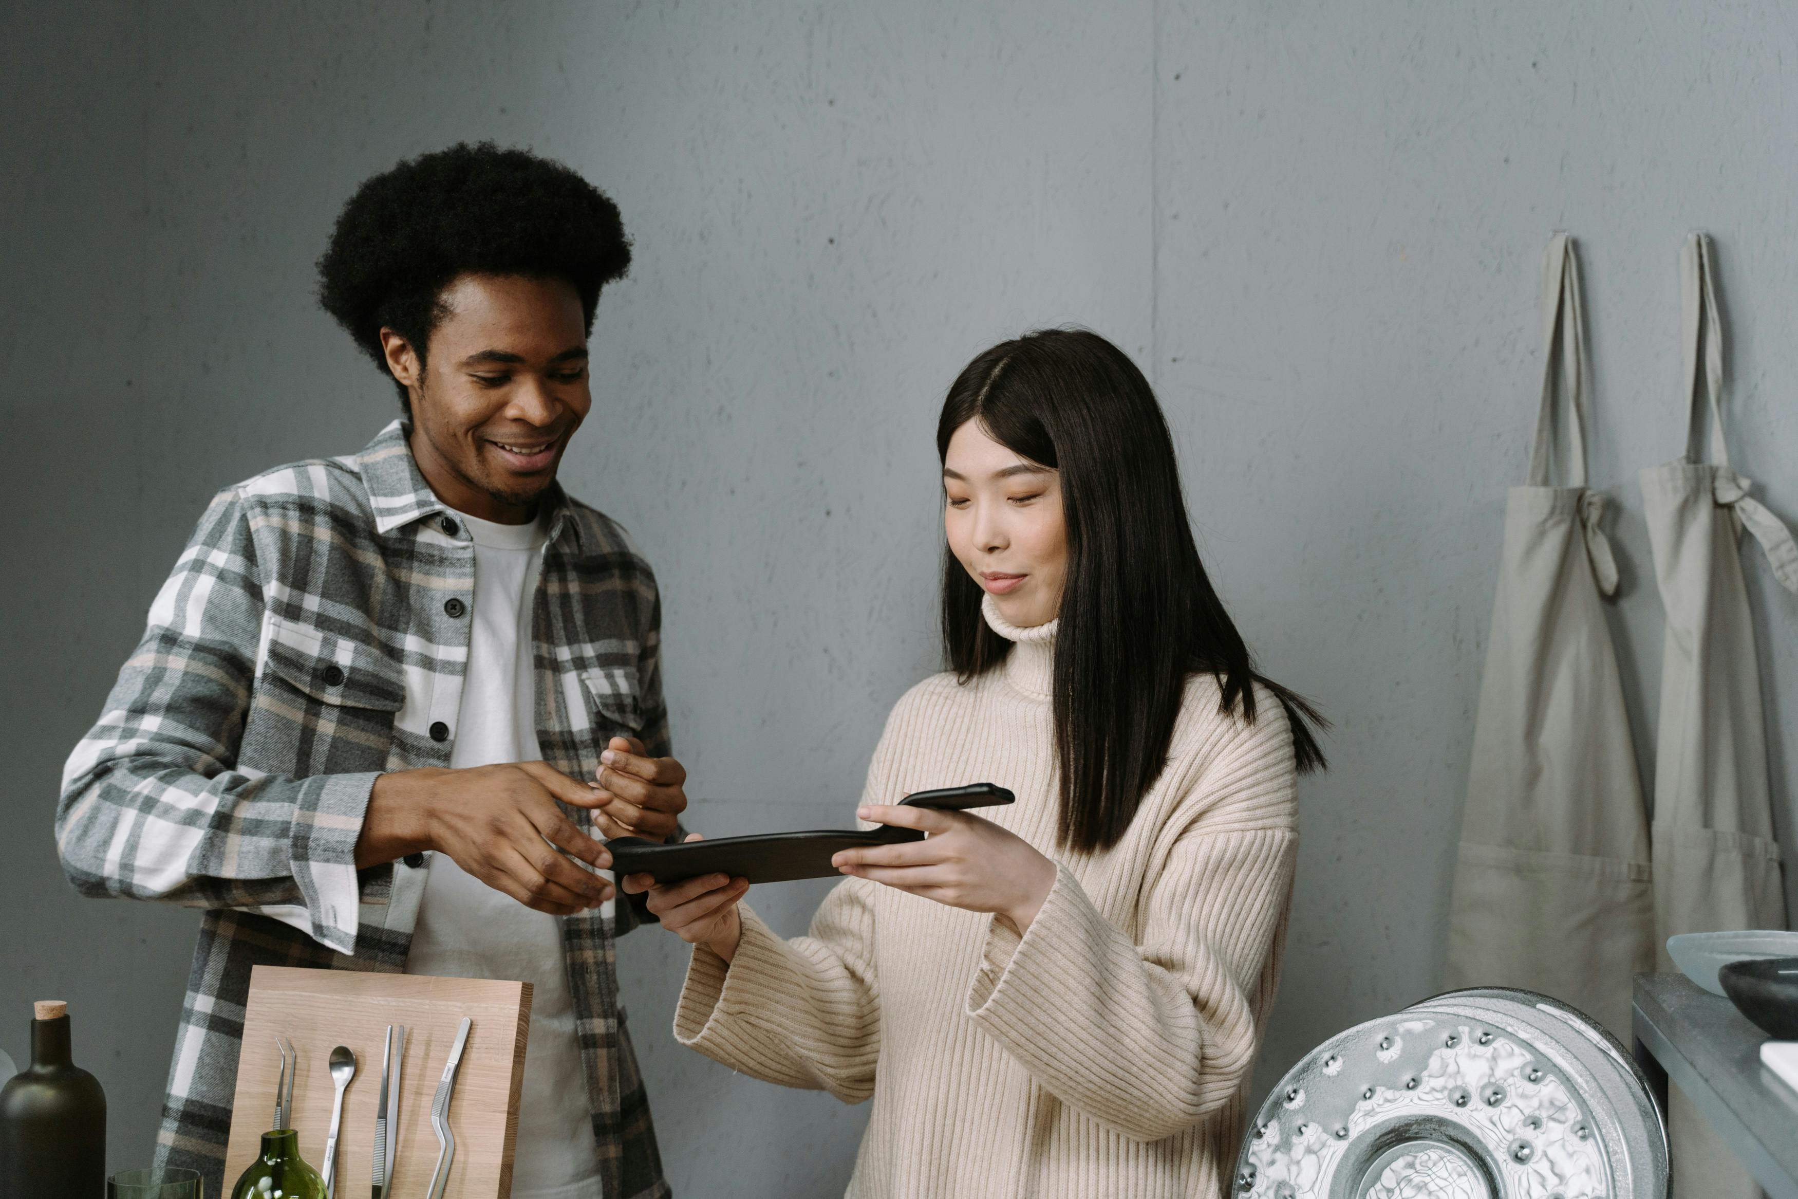
M 1555 453 L 1555 363 L 1568 408 L 1568 453 Z M 1530 487 L 1548 487 L 1550 458 L 1561 458 L 1568 485 L 1580 487 L 1579 523 L 1602 595 L 1616 593 L 1616 555 L 1604 536 L 1604 496 L 1586 487 L 1586 302 L 1573 239 L 1555 234 L 1543 255 L 1543 404 L 1535 413 Z

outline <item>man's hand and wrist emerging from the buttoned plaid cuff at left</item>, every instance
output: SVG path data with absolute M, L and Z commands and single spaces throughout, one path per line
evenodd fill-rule
M 547 762 L 381 775 L 369 795 L 356 865 L 439 850 L 527 908 L 574 915 L 611 899 L 613 886 L 559 850 L 597 868 L 611 866 L 611 854 L 556 800 L 595 809 L 602 795 Z

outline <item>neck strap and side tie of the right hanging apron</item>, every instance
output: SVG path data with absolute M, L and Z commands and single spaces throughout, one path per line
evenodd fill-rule
M 1773 564 L 1773 577 L 1787 591 L 1798 593 L 1798 545 L 1793 543 L 1791 530 L 1764 503 L 1748 494 L 1753 480 L 1730 467 L 1730 442 L 1722 433 L 1722 315 L 1717 307 L 1712 259 L 1710 237 L 1705 234 L 1692 234 L 1679 250 L 1679 316 L 1685 363 L 1679 386 L 1687 399 L 1687 460 L 1705 462 L 1699 457 L 1699 422 L 1696 419 L 1699 404 L 1697 351 L 1703 340 L 1705 390 L 1710 394 L 1710 453 L 1717 466 L 1712 478 L 1712 498 L 1728 507 L 1735 521 L 1755 534 L 1755 541 L 1767 554 L 1767 563 Z

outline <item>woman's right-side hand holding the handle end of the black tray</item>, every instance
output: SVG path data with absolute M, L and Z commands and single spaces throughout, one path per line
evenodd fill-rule
M 912 892 L 939 904 L 991 911 L 1021 935 L 1055 886 L 1055 863 L 1016 832 L 969 813 L 933 807 L 870 805 L 861 820 L 917 829 L 922 841 L 845 848 L 831 865 L 858 879 Z

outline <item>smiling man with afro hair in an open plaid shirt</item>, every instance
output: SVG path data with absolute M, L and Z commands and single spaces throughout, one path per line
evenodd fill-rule
M 212 500 L 68 759 L 70 881 L 205 910 L 156 1161 L 209 1195 L 255 965 L 530 981 L 514 1199 L 669 1194 L 613 976 L 644 913 L 602 845 L 687 807 L 662 604 L 556 484 L 629 261 L 617 205 L 521 149 L 367 180 L 318 298 L 403 415 Z

